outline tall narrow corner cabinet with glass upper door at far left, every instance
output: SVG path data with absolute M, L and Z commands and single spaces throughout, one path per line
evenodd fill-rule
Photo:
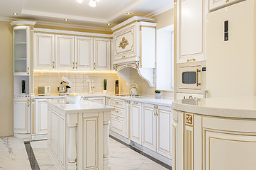
M 30 137 L 32 21 L 13 21 L 13 135 Z

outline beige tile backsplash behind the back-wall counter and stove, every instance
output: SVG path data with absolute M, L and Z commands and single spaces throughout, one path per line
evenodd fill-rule
M 35 94 L 38 94 L 38 86 L 51 86 L 51 93 L 57 94 L 57 86 L 60 86 L 62 77 L 73 81 L 72 92 L 89 94 L 89 84 L 87 81 L 91 81 L 91 86 L 94 86 L 94 94 L 102 94 L 103 81 L 107 79 L 107 91 L 108 94 L 114 94 L 115 81 L 119 81 L 119 93 L 129 94 L 130 86 L 123 81 L 116 72 L 35 72 L 34 73 L 34 85 Z M 130 84 L 138 85 L 138 92 L 143 96 L 155 96 L 155 87 L 150 87 L 148 82 L 141 78 L 136 69 L 130 69 Z M 172 91 L 162 91 L 163 98 L 172 98 Z

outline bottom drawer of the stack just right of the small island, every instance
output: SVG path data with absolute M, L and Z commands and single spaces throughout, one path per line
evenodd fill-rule
M 123 135 L 125 130 L 125 123 L 123 118 L 120 118 L 116 115 L 111 115 L 111 130 L 113 132 L 118 133 L 119 135 Z

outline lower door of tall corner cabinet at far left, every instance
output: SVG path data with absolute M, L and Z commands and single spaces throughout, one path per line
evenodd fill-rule
M 29 133 L 30 102 L 28 98 L 14 98 L 13 100 L 13 131 L 14 133 Z

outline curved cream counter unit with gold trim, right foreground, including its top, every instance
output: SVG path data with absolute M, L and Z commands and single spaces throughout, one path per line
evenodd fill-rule
M 173 108 L 173 169 L 256 167 L 256 97 L 177 100 Z

